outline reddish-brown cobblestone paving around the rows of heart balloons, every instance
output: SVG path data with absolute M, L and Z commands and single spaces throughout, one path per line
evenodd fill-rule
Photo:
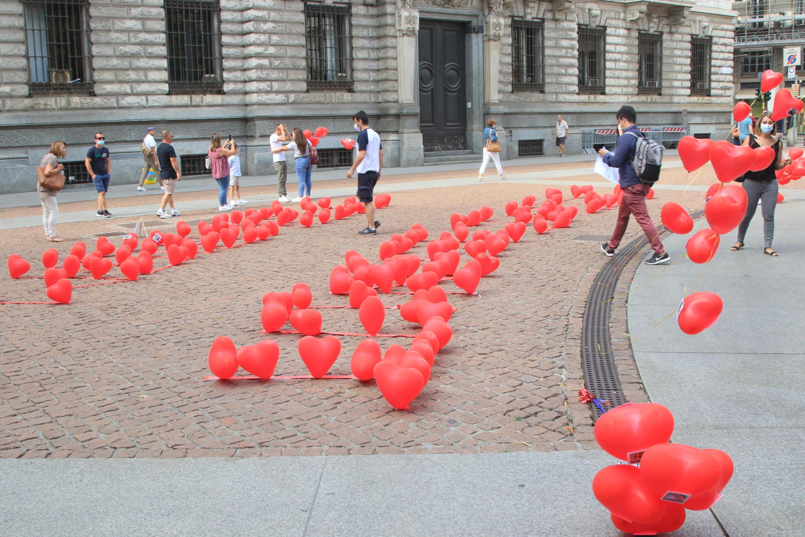
M 666 175 L 669 182 L 681 182 L 684 171 L 671 170 L 663 179 Z M 697 184 L 712 182 L 712 170 L 702 175 Z M 569 188 L 562 190 L 569 198 Z M 378 211 L 382 228 L 377 237 L 356 234 L 363 225 L 360 216 L 310 229 L 288 227 L 266 242 L 211 255 L 200 251 L 195 260 L 137 282 L 78 288 L 69 305 L 2 305 L 0 457 L 596 448 L 588 409 L 576 394 L 583 384 L 584 300 L 606 258 L 597 242 L 572 239 L 608 236 L 615 213 L 588 215 L 581 200 L 566 202 L 582 209 L 570 228 L 538 236 L 529 226 L 518 244 L 500 254 L 500 268 L 482 279 L 480 296 L 449 295 L 460 308 L 451 320 L 454 335 L 411 411 L 391 410 L 374 382 L 203 380 L 216 337 L 229 335 L 238 346 L 264 339 L 258 333 L 259 312 L 267 291 L 290 291 L 302 281 L 311 287 L 314 304 L 345 304 L 345 297 L 329 295 L 328 274 L 344 262 L 349 248 L 377 262 L 380 242 L 414 222 L 437 238 L 449 229 L 450 213 L 484 204 L 495 209 L 494 220 L 510 221 L 504 204 L 526 194 L 541 200 L 543 187 L 502 182 L 394 193 L 391 206 Z M 664 202 L 681 200 L 692 211 L 703 197 L 701 192 L 658 191 L 650 210 L 656 221 Z M 192 222 L 211 216 L 199 211 L 182 218 Z M 160 221 L 158 227 L 173 231 L 174 225 Z M 60 225 L 67 241 L 56 248 L 64 256 L 81 239 L 91 250 L 97 233 L 120 233 L 120 226 L 113 221 Z M 503 224 L 481 227 L 500 229 Z M 638 233 L 633 221 L 624 244 Z M 31 274 L 41 274 L 39 255 L 53 245 L 40 234 L 38 227 L 2 231 L 0 254 L 19 253 L 31 260 Z M 461 252 L 463 263 L 467 256 Z M 424 244 L 411 253 L 424 257 Z M 167 260 L 155 264 L 163 263 Z M 2 280 L 3 299 L 43 299 L 41 280 L 7 275 Z M 450 282 L 442 286 L 456 288 Z M 386 304 L 408 298 L 381 297 Z M 325 330 L 362 331 L 354 310 L 321 312 Z M 390 310 L 383 332 L 415 333 L 415 326 Z M 306 374 L 296 351 L 298 336 L 271 338 L 281 349 L 276 374 Z M 349 374 L 349 357 L 359 341 L 341 340 L 332 374 Z M 399 342 L 380 341 L 384 349 Z

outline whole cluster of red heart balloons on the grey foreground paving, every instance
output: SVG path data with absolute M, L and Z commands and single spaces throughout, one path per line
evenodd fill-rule
M 727 453 L 669 443 L 674 417 L 657 403 L 606 411 L 594 432 L 605 452 L 629 463 L 607 466 L 592 479 L 592 493 L 625 533 L 678 530 L 686 510 L 712 507 L 733 477 Z

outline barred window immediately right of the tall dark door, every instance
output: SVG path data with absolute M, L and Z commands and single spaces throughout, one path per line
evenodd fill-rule
M 511 21 L 512 91 L 545 91 L 543 22 Z

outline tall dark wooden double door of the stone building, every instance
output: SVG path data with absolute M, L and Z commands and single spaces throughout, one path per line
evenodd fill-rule
M 419 130 L 424 151 L 466 149 L 467 88 L 464 27 L 419 24 Z

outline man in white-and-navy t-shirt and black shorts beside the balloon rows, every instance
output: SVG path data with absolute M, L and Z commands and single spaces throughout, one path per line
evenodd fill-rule
M 353 127 L 360 130 L 357 135 L 357 158 L 353 167 L 347 171 L 351 179 L 357 170 L 357 197 L 366 208 L 366 228 L 358 231 L 361 235 L 377 234 L 380 221 L 374 219 L 374 185 L 378 184 L 383 167 L 383 146 L 380 134 L 369 129 L 369 116 L 361 110 L 353 116 Z

